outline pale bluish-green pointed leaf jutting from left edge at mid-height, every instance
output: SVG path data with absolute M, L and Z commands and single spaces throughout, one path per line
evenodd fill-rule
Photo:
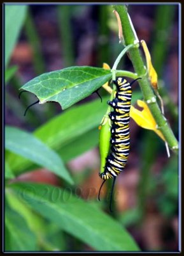
M 60 157 L 32 134 L 15 127 L 5 129 L 5 148 L 23 156 L 73 184 Z

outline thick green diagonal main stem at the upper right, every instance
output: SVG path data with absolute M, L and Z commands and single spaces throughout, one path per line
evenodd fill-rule
M 134 32 L 132 31 L 132 26 L 130 24 L 126 6 L 115 5 L 113 6 L 113 8 L 120 15 L 125 44 L 134 44 L 136 37 L 134 36 Z M 129 56 L 131 58 L 134 70 L 138 74 L 138 77 L 142 77 L 142 79 L 140 79 L 138 83 L 143 93 L 143 98 L 148 104 L 150 111 L 152 112 L 153 118 L 157 122 L 158 129 L 164 135 L 164 138 L 166 139 L 169 147 L 174 152 L 178 153 L 178 141 L 176 140 L 173 131 L 171 130 L 171 127 L 169 127 L 166 118 L 164 117 L 164 115 L 162 115 L 159 105 L 157 104 L 156 97 L 153 93 L 152 87 L 150 86 L 148 77 L 145 76 L 145 65 L 139 49 L 136 47 L 129 49 Z

